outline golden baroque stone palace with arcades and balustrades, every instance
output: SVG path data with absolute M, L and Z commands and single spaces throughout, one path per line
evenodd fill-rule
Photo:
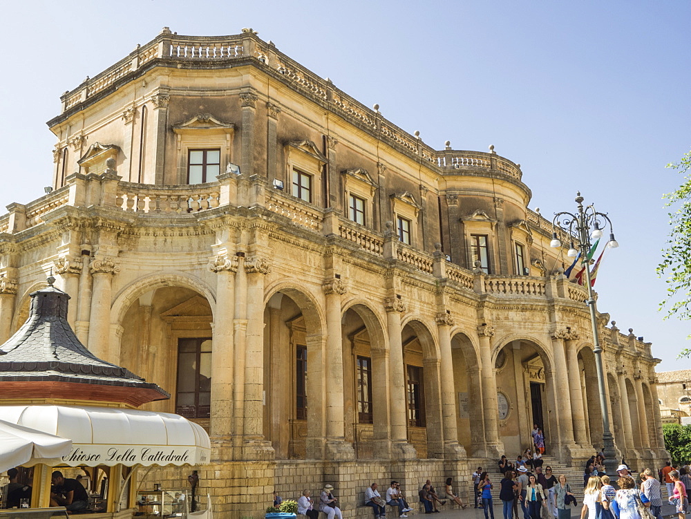
M 493 147 L 436 151 L 251 29 L 165 28 L 61 101 L 53 191 L 0 219 L 0 343 L 52 269 L 79 339 L 209 429 L 221 516 L 464 493 L 533 422 L 561 462 L 602 446 L 585 289 Z M 658 359 L 598 325 L 617 449 L 658 466 Z

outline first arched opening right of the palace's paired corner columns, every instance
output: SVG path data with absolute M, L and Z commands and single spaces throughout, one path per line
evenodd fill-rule
M 323 314 L 296 287 L 269 291 L 264 310 L 263 435 L 276 459 L 323 457 Z

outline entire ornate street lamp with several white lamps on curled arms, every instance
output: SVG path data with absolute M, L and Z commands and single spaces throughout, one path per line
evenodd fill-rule
M 567 233 L 571 240 L 571 247 L 567 253 L 569 256 L 577 256 L 578 250 L 574 247 L 574 239 L 580 249 L 580 257 L 583 258 L 585 265 L 585 286 L 588 290 L 588 299 L 585 303 L 590 309 L 590 323 L 593 328 L 594 354 L 595 366 L 598 375 L 598 390 L 600 392 L 600 411 L 603 415 L 603 444 L 605 453 L 605 471 L 608 475 L 616 475 L 616 467 L 618 461 L 616 460 L 616 452 L 614 451 L 614 436 L 609 426 L 609 414 L 607 413 L 607 397 L 605 393 L 605 370 L 603 369 L 602 353 L 603 349 L 600 346 L 600 337 L 598 334 L 598 323 L 596 319 L 595 298 L 593 296 L 593 287 L 591 286 L 590 268 L 587 264 L 589 262 L 588 254 L 591 249 L 591 238 L 598 240 L 603 236 L 603 229 L 609 225 L 609 240 L 607 247 L 612 249 L 619 246 L 614 239 L 614 232 L 612 231 L 612 220 L 605 213 L 598 213 L 593 205 L 583 207 L 583 196 L 580 192 L 576 196 L 576 203 L 578 204 L 578 212 L 576 214 L 562 211 L 554 215 L 552 220 L 552 240 L 549 243 L 550 247 L 561 247 L 562 243 L 559 240 L 556 229 L 560 229 Z M 592 232 L 591 232 L 592 229 Z

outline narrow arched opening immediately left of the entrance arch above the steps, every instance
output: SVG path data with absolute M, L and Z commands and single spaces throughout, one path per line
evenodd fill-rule
M 473 335 L 459 328 L 451 332 L 451 361 L 458 441 L 469 455 L 484 453 L 484 414 L 480 391 L 480 352 Z

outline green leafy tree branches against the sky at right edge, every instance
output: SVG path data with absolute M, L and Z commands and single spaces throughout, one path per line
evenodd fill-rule
M 679 162 L 667 164 L 683 175 L 683 182 L 676 191 L 665 194 L 665 207 L 669 213 L 670 231 L 667 248 L 663 249 L 662 263 L 657 267 L 659 276 L 667 276 L 667 296 L 660 303 L 668 317 L 691 319 L 691 151 Z M 691 349 L 684 348 L 679 357 L 690 357 Z

